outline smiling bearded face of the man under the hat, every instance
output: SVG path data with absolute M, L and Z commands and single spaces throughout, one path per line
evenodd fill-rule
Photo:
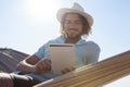
M 67 14 L 63 28 L 68 38 L 79 38 L 82 33 L 82 23 L 78 14 Z

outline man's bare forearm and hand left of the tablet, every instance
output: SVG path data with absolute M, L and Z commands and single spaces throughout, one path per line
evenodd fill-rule
M 42 74 L 51 70 L 50 60 L 43 59 L 39 60 L 35 54 L 26 58 L 22 62 L 20 62 L 16 66 L 16 71 L 21 71 L 23 73 L 36 73 Z

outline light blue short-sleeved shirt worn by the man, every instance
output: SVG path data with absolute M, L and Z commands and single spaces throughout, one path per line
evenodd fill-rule
M 49 52 L 49 46 L 50 44 L 65 44 L 65 38 L 63 36 L 60 36 L 55 39 L 49 40 L 47 44 L 44 44 L 42 47 L 38 49 L 38 51 L 35 53 L 40 60 L 41 59 L 51 59 L 50 52 Z M 75 44 L 76 47 L 76 66 L 82 66 L 90 63 L 94 63 L 99 60 L 100 54 L 100 47 L 98 44 L 93 41 L 86 41 L 84 39 L 80 39 L 77 44 Z M 53 74 L 52 72 L 48 72 L 42 75 L 36 75 L 36 74 L 27 74 L 29 76 L 35 77 L 36 79 L 40 82 L 44 82 L 49 78 L 56 77 L 58 75 Z

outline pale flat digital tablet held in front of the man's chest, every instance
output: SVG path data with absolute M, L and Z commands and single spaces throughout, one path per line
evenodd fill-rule
M 54 74 L 63 69 L 76 67 L 76 49 L 73 44 L 50 45 L 51 66 Z

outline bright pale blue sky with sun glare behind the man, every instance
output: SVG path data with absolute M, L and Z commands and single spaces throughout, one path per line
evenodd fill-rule
M 94 18 L 88 40 L 101 47 L 100 60 L 130 50 L 129 0 L 0 0 L 0 47 L 32 54 L 60 35 L 56 11 L 74 2 Z M 106 87 L 130 86 L 127 80 L 129 76 Z

